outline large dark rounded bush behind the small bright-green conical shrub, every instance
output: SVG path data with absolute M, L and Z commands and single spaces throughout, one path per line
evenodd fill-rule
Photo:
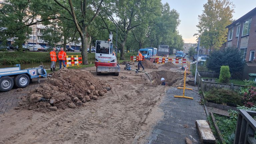
M 230 73 L 241 71 L 244 67 L 243 55 L 235 47 L 213 51 L 207 59 L 207 68 L 220 72 L 223 65 L 229 66 Z

